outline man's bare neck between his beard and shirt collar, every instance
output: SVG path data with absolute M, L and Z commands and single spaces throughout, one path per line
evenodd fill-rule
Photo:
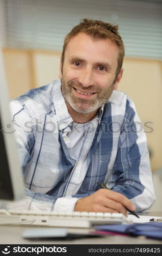
M 80 113 L 80 112 L 77 112 L 76 110 L 72 109 L 67 101 L 65 101 L 65 102 L 67 105 L 68 112 L 75 123 L 87 123 L 87 122 L 91 121 L 96 116 L 96 114 L 98 112 L 98 110 L 95 110 L 91 113 L 86 113 L 86 114 Z

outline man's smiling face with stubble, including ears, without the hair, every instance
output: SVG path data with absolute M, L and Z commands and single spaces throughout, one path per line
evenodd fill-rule
M 63 65 L 63 66 L 62 66 Z M 118 47 L 110 40 L 93 39 L 85 33 L 72 38 L 60 65 L 62 93 L 68 109 L 96 112 L 117 89 Z

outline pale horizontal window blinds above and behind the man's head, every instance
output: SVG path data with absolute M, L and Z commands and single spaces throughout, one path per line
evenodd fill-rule
M 162 59 L 161 0 L 4 0 L 8 48 L 62 50 L 89 17 L 119 25 L 127 57 Z

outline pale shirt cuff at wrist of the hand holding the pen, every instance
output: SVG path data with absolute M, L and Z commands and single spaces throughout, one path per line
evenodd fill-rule
M 54 211 L 74 211 L 75 204 L 80 198 L 60 197 L 56 200 Z

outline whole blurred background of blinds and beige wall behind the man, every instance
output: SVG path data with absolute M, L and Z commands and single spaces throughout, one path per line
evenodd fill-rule
M 85 17 L 119 25 L 126 55 L 118 90 L 136 104 L 161 187 L 162 0 L 0 0 L 10 98 L 58 79 L 64 37 Z

